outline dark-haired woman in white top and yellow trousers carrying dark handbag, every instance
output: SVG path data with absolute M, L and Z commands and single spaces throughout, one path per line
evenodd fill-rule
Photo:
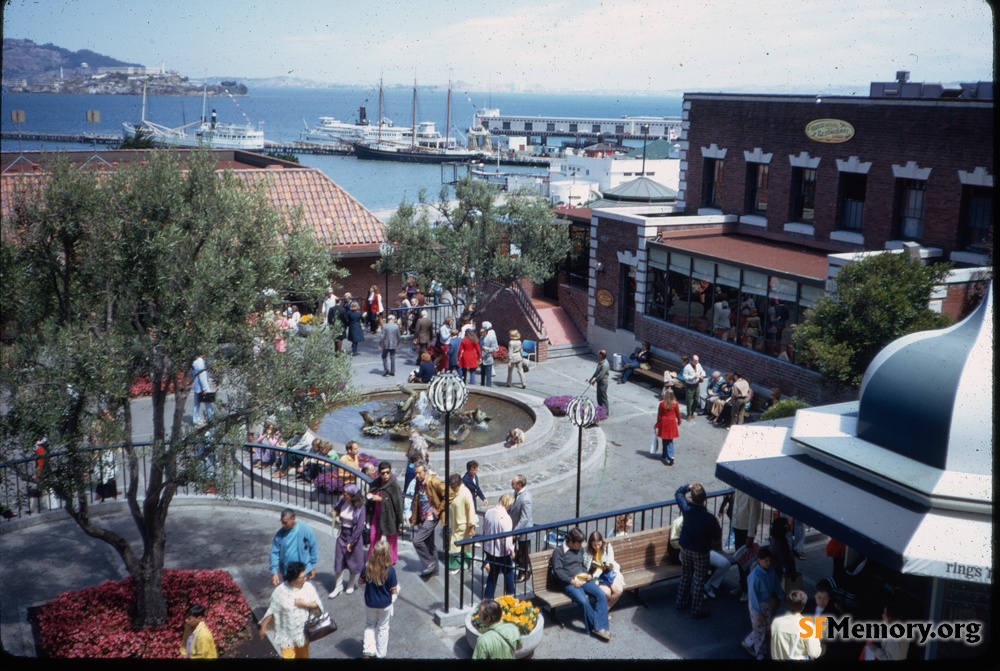
M 306 565 L 291 562 L 285 570 L 285 581 L 274 588 L 271 602 L 260 621 L 259 636 L 267 636 L 267 629 L 274 625 L 274 644 L 282 659 L 308 659 L 309 640 L 306 622 L 310 611 L 320 608 L 319 594 L 306 579 Z

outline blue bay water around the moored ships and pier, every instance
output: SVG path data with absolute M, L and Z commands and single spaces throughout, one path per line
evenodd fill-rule
M 386 88 L 382 115 L 397 125 L 412 121 L 413 89 Z M 495 107 L 503 114 L 559 115 L 574 117 L 680 116 L 680 96 L 620 96 L 614 94 L 543 94 L 480 93 L 453 91 L 451 132 L 463 132 L 471 125 L 477 108 Z M 299 132 L 317 122 L 320 116 L 342 121 L 356 120 L 358 108 L 367 108 L 369 119 L 378 116 L 378 88 L 337 87 L 322 89 L 259 88 L 237 98 L 212 97 L 208 109 L 215 108 L 223 122 L 254 125 L 263 121 L 268 140 L 291 143 Z M 448 96 L 443 89 L 420 88 L 417 92 L 417 120 L 434 121 L 444 132 Z M 142 113 L 139 96 L 61 95 L 42 93 L 2 94 L 3 114 L 0 127 L 17 130 L 10 121 L 10 110 L 24 110 L 24 131 L 120 134 L 122 124 L 138 123 Z M 87 111 L 98 110 L 101 122 L 87 123 Z M 180 126 L 197 120 L 202 112 L 200 96 L 150 96 L 146 118 L 165 126 Z M 86 150 L 81 144 L 29 143 L 3 140 L 3 151 Z M 442 168 L 435 165 L 411 165 L 382 161 L 360 161 L 353 156 L 302 154 L 303 165 L 318 168 L 371 210 L 397 207 L 404 199 L 414 202 L 420 190 L 435 198 L 441 189 Z M 537 170 L 537 169 L 536 169 Z M 446 179 L 450 174 L 446 173 Z

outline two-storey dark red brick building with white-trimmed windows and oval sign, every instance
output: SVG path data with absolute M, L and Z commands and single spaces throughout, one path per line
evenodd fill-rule
M 992 83 L 873 83 L 864 98 L 689 93 L 675 204 L 564 211 L 577 247 L 559 302 L 591 349 L 649 341 L 758 391 L 836 400 L 790 326 L 859 254 L 955 264 L 932 309 L 967 314 L 991 273 Z M 569 264 L 572 266 L 572 262 Z M 586 295 L 586 322 L 580 303 Z

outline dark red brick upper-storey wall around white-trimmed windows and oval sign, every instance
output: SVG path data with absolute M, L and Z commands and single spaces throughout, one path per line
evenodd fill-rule
M 935 103 L 872 100 L 864 104 L 838 102 L 835 98 L 802 101 L 789 97 L 740 98 L 735 100 L 691 98 L 687 139 L 688 168 L 685 185 L 686 210 L 701 206 L 704 159 L 701 148 L 713 142 L 727 149 L 725 177 L 719 202 L 726 214 L 745 214 L 746 161 L 743 151 L 760 147 L 773 153 L 769 169 L 767 230 L 782 234 L 791 221 L 792 167 L 789 155 L 808 152 L 820 158 L 816 173 L 814 239 L 829 240 L 836 230 L 835 217 L 839 173 L 837 159 L 857 156 L 872 163 L 868 172 L 864 211 L 866 249 L 882 249 L 887 240 L 898 239 L 893 210 L 896 180 L 892 166 L 915 161 L 931 168 L 927 180 L 923 239 L 925 246 L 941 247 L 945 253 L 960 249 L 959 213 L 961 183 L 957 172 L 984 166 L 993 173 L 993 107 L 981 103 Z M 805 125 L 821 118 L 849 122 L 855 136 L 841 144 L 814 142 L 805 136 Z M 801 241 L 801 236 L 795 236 Z

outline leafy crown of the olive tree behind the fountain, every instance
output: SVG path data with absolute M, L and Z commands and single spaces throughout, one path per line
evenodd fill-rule
M 419 205 L 400 205 L 386 233 L 396 251 L 374 266 L 379 272 L 416 271 L 453 292 L 464 290 L 481 310 L 521 277 L 536 283 L 552 277 L 569 251 L 566 227 L 554 224 L 548 201 L 530 191 L 499 198 L 467 177 L 455 185 L 457 202 L 445 195 L 434 206 L 423 194 Z

